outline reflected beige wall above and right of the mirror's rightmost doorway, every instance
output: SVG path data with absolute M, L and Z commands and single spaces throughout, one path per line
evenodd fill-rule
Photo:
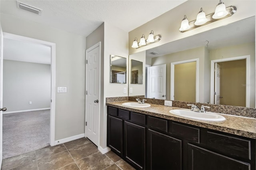
M 209 51 L 211 60 L 250 55 L 250 107 L 255 107 L 255 43 L 232 45 Z

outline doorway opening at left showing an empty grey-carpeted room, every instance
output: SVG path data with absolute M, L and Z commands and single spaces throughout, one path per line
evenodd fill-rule
M 3 35 L 3 158 L 8 158 L 54 146 L 56 45 Z

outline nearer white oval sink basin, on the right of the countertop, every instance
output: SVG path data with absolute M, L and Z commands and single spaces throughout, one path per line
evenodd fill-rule
M 174 115 L 181 117 L 187 117 L 192 119 L 204 120 L 204 121 L 224 121 L 226 120 L 222 115 L 218 115 L 212 112 L 200 113 L 194 112 L 186 109 L 173 109 L 169 111 Z

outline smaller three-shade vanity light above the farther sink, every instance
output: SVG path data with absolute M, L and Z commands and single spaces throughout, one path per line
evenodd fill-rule
M 148 39 L 145 39 L 145 35 L 142 34 L 142 37 L 140 38 L 140 42 L 138 43 L 138 39 L 135 38 L 133 43 L 132 43 L 132 48 L 140 48 L 143 47 L 145 45 L 149 45 L 155 42 L 159 42 L 161 40 L 161 36 L 160 35 L 156 35 L 154 36 L 154 31 L 151 30 L 150 34 L 148 35 Z

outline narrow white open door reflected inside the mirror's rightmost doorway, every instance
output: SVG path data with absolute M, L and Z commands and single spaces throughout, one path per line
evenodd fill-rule
M 214 104 L 220 105 L 220 65 L 215 63 Z

